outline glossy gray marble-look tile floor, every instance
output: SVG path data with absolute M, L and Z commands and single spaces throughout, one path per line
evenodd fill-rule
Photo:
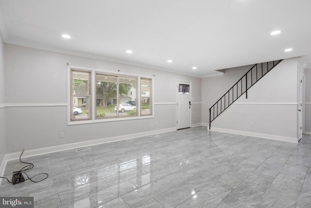
M 157 137 L 24 158 L 48 172 L 40 183 L 11 185 L 0 196 L 34 196 L 35 207 L 311 207 L 311 136 L 299 144 L 209 132 Z M 5 176 L 24 165 L 10 161 Z

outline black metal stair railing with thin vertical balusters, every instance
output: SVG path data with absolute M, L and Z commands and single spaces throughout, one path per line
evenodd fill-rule
M 257 63 L 250 70 L 242 76 L 226 93 L 223 95 L 212 107 L 209 108 L 209 129 L 210 124 L 215 118 L 223 113 L 232 103 L 234 103 L 239 97 L 251 88 L 256 82 L 258 82 L 263 76 L 270 72 L 273 68 L 279 64 L 281 60 Z

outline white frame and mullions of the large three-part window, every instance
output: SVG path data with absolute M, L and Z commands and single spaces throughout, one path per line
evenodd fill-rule
M 91 112 L 91 119 L 88 120 L 73 120 L 71 121 L 70 119 L 70 110 L 71 110 L 71 95 L 70 95 L 70 89 L 71 89 L 71 76 L 70 72 L 71 69 L 76 69 L 76 70 L 81 70 L 81 71 L 90 71 L 91 73 L 91 107 L 90 107 L 90 112 Z M 122 121 L 122 120 L 135 120 L 135 119 L 146 119 L 146 118 L 154 118 L 155 117 L 155 88 L 154 88 L 154 76 L 145 76 L 145 75 L 137 75 L 137 74 L 130 74 L 130 73 L 122 73 L 118 71 L 108 71 L 108 70 L 103 70 L 103 69 L 94 69 L 94 68 L 87 68 L 87 67 L 80 67 L 80 66 L 72 66 L 68 65 L 67 66 L 67 124 L 68 125 L 79 125 L 79 124 L 89 124 L 89 123 L 102 123 L 102 122 L 113 122 L 113 121 Z M 152 101 L 152 114 L 151 115 L 140 115 L 140 110 L 138 111 L 138 116 L 135 117 L 117 117 L 117 118 L 108 118 L 108 119 L 96 119 L 96 89 L 95 89 L 95 82 L 96 82 L 96 73 L 99 74 L 107 74 L 107 75 L 116 75 L 116 76 L 136 76 L 137 77 L 137 100 L 136 100 L 136 109 L 140 109 L 140 77 L 141 78 L 147 78 L 151 79 L 151 101 Z M 139 92 L 139 94 L 138 94 Z M 139 96 L 138 96 L 139 95 Z M 72 110 L 71 110 L 72 111 Z

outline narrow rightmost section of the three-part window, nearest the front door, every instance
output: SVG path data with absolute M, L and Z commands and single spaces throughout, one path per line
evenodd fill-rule
M 140 114 L 152 114 L 151 79 L 140 79 Z

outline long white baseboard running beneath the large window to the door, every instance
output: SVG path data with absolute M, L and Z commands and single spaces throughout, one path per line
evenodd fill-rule
M 113 136 L 113 137 L 107 137 L 107 138 L 102 138 L 102 139 L 94 139 L 94 140 L 89 140 L 89 141 L 76 142 L 76 143 L 70 143 L 70 144 L 64 144 L 64 145 L 58 145 L 58 146 L 52 146 L 52 147 L 46 147 L 46 148 L 40 148 L 40 149 L 34 149 L 34 150 L 26 150 L 23 153 L 23 157 L 31 157 L 31 156 L 40 155 L 40 154 L 71 150 L 71 149 L 76 149 L 76 148 L 81 148 L 81 147 L 86 147 L 86 146 L 99 145 L 99 144 L 104 144 L 108 142 L 115 142 L 115 141 L 120 141 L 120 140 L 137 138 L 140 136 L 148 136 L 152 134 L 173 132 L 173 131 L 176 131 L 176 127 L 154 130 L 154 131 L 149 131 L 149 132 L 140 132 L 140 133 L 121 135 L 121 136 Z M 20 153 L 21 152 L 7 153 L 5 154 L 5 160 L 6 161 L 16 160 L 19 158 Z

